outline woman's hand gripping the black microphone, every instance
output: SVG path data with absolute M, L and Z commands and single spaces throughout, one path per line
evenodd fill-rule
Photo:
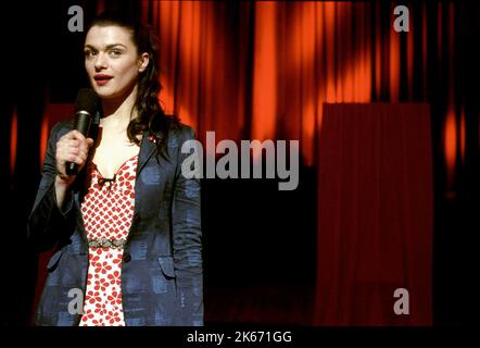
M 66 174 L 66 163 L 78 165 L 78 172 L 87 162 L 88 151 L 93 145 L 92 138 L 86 138 L 80 132 L 74 129 L 65 134 L 56 142 L 56 183 L 68 187 L 75 181 L 75 175 Z

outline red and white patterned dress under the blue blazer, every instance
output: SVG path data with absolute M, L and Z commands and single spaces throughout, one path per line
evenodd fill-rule
M 125 326 L 122 307 L 123 244 L 135 204 L 138 154 L 124 162 L 113 179 L 90 162 L 90 185 L 81 203 L 89 241 L 89 266 L 80 326 Z

